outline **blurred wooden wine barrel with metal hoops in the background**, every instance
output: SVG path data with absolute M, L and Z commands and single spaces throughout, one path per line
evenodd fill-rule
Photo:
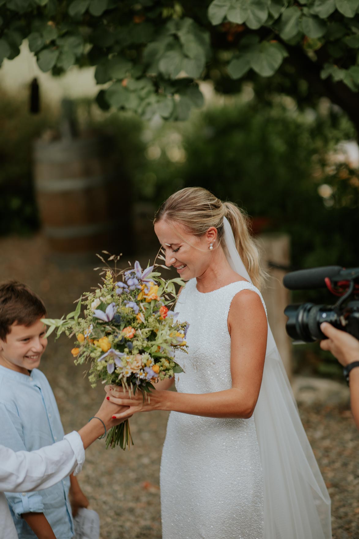
M 128 182 L 105 139 L 36 141 L 33 172 L 43 230 L 58 253 L 128 252 Z

